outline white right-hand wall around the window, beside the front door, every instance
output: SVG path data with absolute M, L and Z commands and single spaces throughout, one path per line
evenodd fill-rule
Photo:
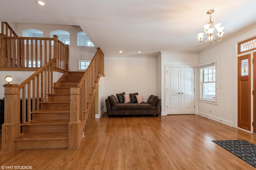
M 230 39 L 224 35 L 217 45 L 198 53 L 198 64 L 217 60 L 218 85 L 222 85 L 217 89 L 218 105 L 198 102 L 198 114 L 237 127 L 237 43 L 255 35 L 256 27 Z

